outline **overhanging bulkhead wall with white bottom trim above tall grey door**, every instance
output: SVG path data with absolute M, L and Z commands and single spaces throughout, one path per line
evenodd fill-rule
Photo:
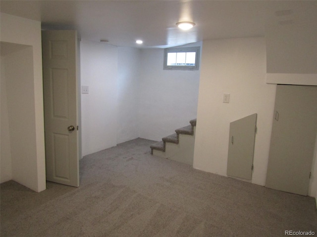
M 316 12 L 311 1 L 267 18 L 267 83 L 317 85 Z

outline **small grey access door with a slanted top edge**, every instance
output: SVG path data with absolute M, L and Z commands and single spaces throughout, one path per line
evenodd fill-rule
M 227 175 L 252 179 L 257 114 L 230 122 Z

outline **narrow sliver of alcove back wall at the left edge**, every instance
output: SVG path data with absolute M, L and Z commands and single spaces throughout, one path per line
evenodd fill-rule
M 10 143 L 10 130 L 9 130 L 9 117 L 8 117 L 8 107 L 6 98 L 6 83 L 5 83 L 5 67 L 4 67 L 4 56 L 1 56 L 0 62 L 0 180 L 1 183 L 9 181 L 12 179 L 12 161 L 11 161 L 11 143 Z

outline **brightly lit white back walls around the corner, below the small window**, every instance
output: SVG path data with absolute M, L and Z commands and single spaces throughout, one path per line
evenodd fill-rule
M 83 156 L 138 137 L 161 140 L 196 118 L 200 71 L 163 70 L 163 53 L 80 42 L 81 84 L 89 86 Z

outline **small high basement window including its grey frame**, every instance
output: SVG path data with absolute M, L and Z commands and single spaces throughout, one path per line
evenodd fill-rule
M 198 70 L 200 47 L 166 48 L 164 70 Z

